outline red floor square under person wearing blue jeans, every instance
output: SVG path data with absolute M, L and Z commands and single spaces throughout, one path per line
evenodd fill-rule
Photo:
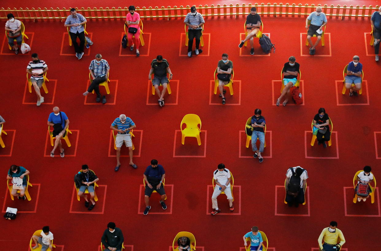
M 264 148 L 262 157 L 263 158 L 272 158 L 272 131 L 266 131 L 265 141 L 266 141 L 266 147 Z M 257 140 L 257 149 L 259 149 L 259 140 Z M 270 149 L 270 151 L 268 149 Z M 242 154 L 246 154 L 246 155 L 242 155 Z M 239 155 L 238 155 L 238 158 L 253 158 L 253 154 L 254 154 L 254 152 L 253 152 L 253 148 L 251 148 L 251 141 L 249 144 L 249 148 L 246 148 L 246 132 L 245 131 L 239 131 Z

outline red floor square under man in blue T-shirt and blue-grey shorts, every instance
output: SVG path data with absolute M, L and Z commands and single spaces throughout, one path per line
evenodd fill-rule
M 367 80 L 362 81 L 362 94 L 357 97 L 354 95 L 349 97 L 349 90 L 346 90 L 345 94 L 343 95 L 343 85 L 343 80 L 335 81 L 336 105 L 369 105 Z

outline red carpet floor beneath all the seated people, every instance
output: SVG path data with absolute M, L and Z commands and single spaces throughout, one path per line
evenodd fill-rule
M 82 60 L 69 47 L 63 23 L 26 22 L 30 53 L 38 53 L 49 67 L 49 93 L 37 107 L 35 93 L 26 90 L 30 53 L 12 55 L 2 43 L 0 57 L 7 67 L 2 71 L 0 114 L 7 121 L 8 135 L 3 135 L 6 147 L 0 149 L 0 163 L 4 177 L 11 164 L 26 167 L 33 187 L 31 201 L 11 201 L 3 183 L 2 211 L 11 206 L 25 213 L 14 221 L 2 221 L 0 249 L 27 251 L 32 233 L 50 225 L 56 250 L 96 251 L 107 223 L 114 221 L 124 233 L 124 244 L 132 245 L 128 251 L 167 251 L 179 231 L 194 233 L 197 250 L 239 251 L 243 234 L 253 225 L 266 233 L 269 250 L 310 251 L 316 250 L 321 230 L 336 220 L 347 241 L 343 251 L 380 250 L 378 189 L 374 204 L 370 199 L 354 204 L 350 188 L 355 172 L 365 165 L 379 177 L 380 65 L 368 45 L 370 36 L 364 35 L 370 32 L 369 21 L 329 19 L 325 47 L 319 45 L 317 55 L 305 56 L 304 20 L 264 17 L 264 33 L 270 34 L 277 50 L 264 56 L 256 41 L 256 55 L 250 56 L 248 48 L 237 47 L 243 19 L 207 19 L 204 51 L 192 58 L 184 56 L 182 20 L 144 21 L 146 45 L 139 58 L 125 56 L 128 49 L 120 50 L 123 21 L 90 21 L 87 31 L 94 45 L 85 50 Z M 82 96 L 88 65 L 96 53 L 110 64 L 111 94 L 106 105 L 93 105 L 94 95 Z M 225 106 L 211 95 L 213 71 L 222 53 L 229 54 L 235 72 L 234 95 L 227 95 Z M 174 74 L 172 94 L 165 96 L 163 108 L 155 104 L 147 78 L 150 61 L 158 54 L 168 60 Z M 277 107 L 280 71 L 291 55 L 301 66 L 304 105 L 290 102 Z M 360 56 L 365 72 L 359 97 L 341 94 L 343 68 L 354 55 Z M 73 132 L 72 146 L 64 143 L 65 158 L 48 156 L 46 121 L 53 106 L 67 114 Z M 309 144 L 310 123 L 320 107 L 334 124 L 332 146 L 326 149 Z M 267 121 L 266 157 L 261 164 L 250 157 L 242 132 L 255 108 L 262 109 Z M 122 157 L 115 173 L 109 127 L 121 113 L 137 126 L 133 142 L 139 168 L 133 170 L 128 157 Z M 181 145 L 179 124 L 187 113 L 202 120 L 201 146 L 194 138 Z M 128 155 L 125 148 L 122 155 Z M 187 155 L 192 156 L 181 157 Z M 160 208 L 154 194 L 152 210 L 143 216 L 142 174 L 154 158 L 166 170 L 168 209 Z M 221 195 L 221 214 L 210 216 L 212 172 L 219 163 L 234 174 L 235 211 L 228 212 Z M 82 164 L 88 164 L 100 179 L 99 201 L 91 213 L 73 193 L 73 176 Z M 285 172 L 298 165 L 310 177 L 307 204 L 288 208 L 283 203 Z

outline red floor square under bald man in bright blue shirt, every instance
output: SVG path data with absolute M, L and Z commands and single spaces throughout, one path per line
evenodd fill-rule
M 72 134 L 69 134 L 69 141 L 71 143 L 70 147 L 67 147 L 66 141 L 61 138 L 62 148 L 65 151 L 65 157 L 75 157 L 77 155 L 77 146 L 78 146 L 78 138 L 79 138 L 79 130 L 71 130 Z M 53 139 L 53 144 L 56 142 L 55 139 Z M 74 145 L 74 150 L 73 150 Z M 50 151 L 53 149 L 53 146 L 50 145 L 50 135 L 48 132 L 46 132 L 46 141 L 45 141 L 45 150 L 44 150 L 44 157 L 50 157 Z M 54 157 L 61 158 L 59 156 L 59 148 L 57 147 L 56 152 L 54 153 Z

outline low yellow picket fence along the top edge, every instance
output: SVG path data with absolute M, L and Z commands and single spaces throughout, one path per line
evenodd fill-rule
M 261 16 L 297 16 L 304 17 L 308 16 L 312 11 L 315 11 L 316 6 L 321 5 L 298 5 L 294 4 L 283 4 L 283 3 L 274 3 L 274 4 L 251 4 L 248 5 L 205 5 L 198 6 L 197 11 L 201 13 L 204 17 L 214 18 L 221 16 L 246 16 L 250 13 L 250 8 L 255 6 L 257 11 Z M 378 5 L 373 6 L 340 6 L 340 5 L 324 5 L 322 6 L 323 12 L 329 18 L 370 18 L 373 11 L 378 11 Z M 0 19 L 6 19 L 6 14 L 13 13 L 17 19 L 66 19 L 69 15 L 70 8 L 1 8 L 0 9 Z M 128 8 L 77 8 L 78 12 L 83 14 L 86 19 L 124 19 L 128 13 Z M 140 17 L 144 19 L 178 19 L 186 16 L 190 12 L 190 6 L 168 6 L 168 7 L 136 7 L 136 11 L 139 11 Z

